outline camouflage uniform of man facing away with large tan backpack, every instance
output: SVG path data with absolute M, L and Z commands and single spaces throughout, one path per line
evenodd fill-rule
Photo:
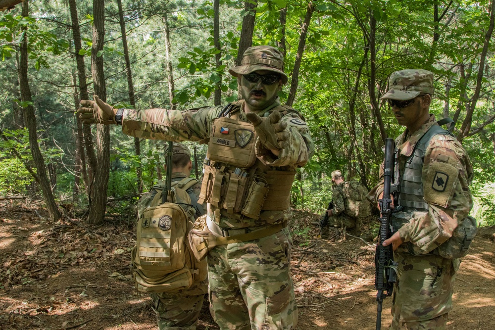
M 186 174 L 182 172 L 172 173 L 172 183 L 179 182 L 186 178 Z M 158 181 L 154 187 L 166 189 L 166 183 L 163 180 Z M 198 182 L 193 187 L 188 189 L 196 196 L 199 196 L 201 183 Z M 144 194 L 138 202 L 138 218 L 145 207 L 148 207 L 156 190 L 151 189 Z M 193 203 L 194 204 L 194 203 Z M 198 213 L 204 214 L 204 208 L 201 205 L 193 205 Z M 173 292 L 166 293 L 151 293 L 150 297 L 153 300 L 153 310 L 156 313 L 156 322 L 160 330 L 195 330 L 198 322 L 199 312 L 203 305 L 204 295 L 208 292 L 208 280 L 200 283 L 193 283 L 188 288 L 179 289 Z

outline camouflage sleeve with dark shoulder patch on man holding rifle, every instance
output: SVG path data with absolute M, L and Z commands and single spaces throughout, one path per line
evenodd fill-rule
M 459 141 L 447 135 L 434 137 L 426 150 L 422 171 L 429 211 L 399 229 L 402 240 L 430 252 L 450 238 L 473 206 L 469 190 L 472 180 L 473 167 Z

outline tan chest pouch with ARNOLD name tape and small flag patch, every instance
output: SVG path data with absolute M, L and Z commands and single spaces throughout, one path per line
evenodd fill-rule
M 256 161 L 254 127 L 251 123 L 221 117 L 212 123 L 206 157 L 239 168 L 251 167 Z

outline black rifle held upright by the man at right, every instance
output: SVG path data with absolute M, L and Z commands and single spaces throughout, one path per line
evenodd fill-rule
M 390 186 L 394 178 L 394 148 L 395 142 L 393 139 L 385 139 L 385 161 L 383 169 L 383 197 L 378 200 L 380 204 L 380 233 L 376 243 L 375 251 L 375 288 L 378 290 L 376 294 L 377 318 L 376 330 L 382 327 L 382 302 L 387 296 L 392 295 L 394 283 L 397 281 L 396 266 L 394 262 L 394 250 L 392 244 L 383 246 L 384 240 L 392 236 L 393 228 L 391 223 L 392 198 L 390 195 Z M 385 293 L 386 291 L 386 293 Z

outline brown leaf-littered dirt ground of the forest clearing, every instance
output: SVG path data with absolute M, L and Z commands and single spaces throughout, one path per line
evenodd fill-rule
M 375 329 L 373 243 L 316 239 L 317 221 L 298 211 L 290 224 L 297 329 Z M 131 278 L 134 231 L 122 221 L 50 223 L 37 206 L 0 202 L 0 329 L 156 329 L 150 299 Z M 494 233 L 481 228 L 463 258 L 448 330 L 495 329 Z M 382 329 L 391 323 L 390 302 Z M 198 330 L 214 329 L 204 304 Z

